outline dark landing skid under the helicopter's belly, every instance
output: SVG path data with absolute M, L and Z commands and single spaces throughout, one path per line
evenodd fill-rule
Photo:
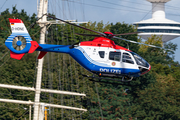
M 126 80 L 126 78 L 124 76 L 122 76 L 122 80 L 117 80 L 117 78 L 120 78 L 120 77 L 111 77 L 111 78 L 96 77 L 96 76 L 94 76 L 94 74 L 93 74 L 93 76 L 83 75 L 83 77 L 90 78 L 89 80 L 93 81 L 93 82 L 101 82 L 101 83 L 108 83 L 108 84 L 119 84 L 119 85 L 126 85 L 126 84 L 122 84 L 122 83 L 123 82 L 124 83 L 130 82 L 133 79 L 133 77 L 131 77 L 130 79 Z M 121 82 L 121 83 L 106 82 L 106 81 L 102 81 L 102 80 L 117 81 L 117 82 Z M 130 86 L 130 85 L 127 85 L 127 86 Z

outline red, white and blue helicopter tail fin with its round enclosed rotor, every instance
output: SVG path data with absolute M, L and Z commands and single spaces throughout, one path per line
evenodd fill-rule
M 25 53 L 33 53 L 39 44 L 32 41 L 21 19 L 9 18 L 12 34 L 5 41 L 5 45 L 11 51 L 11 58 L 20 60 Z

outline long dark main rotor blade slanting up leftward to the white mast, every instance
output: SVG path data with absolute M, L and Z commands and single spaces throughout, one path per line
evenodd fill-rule
M 88 30 L 88 31 L 91 31 L 91 32 L 94 32 L 94 33 L 97 33 L 97 34 L 100 34 L 100 35 L 102 35 L 102 36 L 104 36 L 104 37 L 106 36 L 106 34 L 104 34 L 104 33 L 102 33 L 102 32 L 97 32 L 97 31 L 94 31 L 94 30 L 91 30 L 91 29 L 88 29 L 88 28 L 85 28 L 85 27 L 82 27 L 82 26 L 79 26 L 79 25 L 76 25 L 76 24 L 67 22 L 67 21 L 65 21 L 65 20 L 62 20 L 62 19 L 59 19 L 59 18 L 50 16 L 50 15 L 48 15 L 48 14 L 46 14 L 46 15 L 47 15 L 48 17 L 50 17 L 50 18 L 53 18 L 53 19 L 56 19 L 56 20 L 60 20 L 60 21 L 62 21 L 62 22 L 64 22 L 64 23 L 67 23 L 67 24 L 69 24 L 69 25 L 73 25 L 73 26 L 76 26 L 76 27 L 79 27 L 79 28 L 82 28 L 82 29 L 85 29 L 85 30 Z

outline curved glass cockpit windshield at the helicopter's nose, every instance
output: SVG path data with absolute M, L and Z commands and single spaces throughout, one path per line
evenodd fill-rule
M 141 56 L 134 52 L 131 52 L 131 54 L 134 56 L 134 59 L 138 65 L 149 68 L 148 62 L 146 62 Z

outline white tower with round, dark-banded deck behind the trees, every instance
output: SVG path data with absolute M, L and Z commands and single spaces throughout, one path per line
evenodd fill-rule
M 180 23 L 165 18 L 165 3 L 170 0 L 147 0 L 152 3 L 152 18 L 135 22 L 138 27 L 138 35 L 143 39 L 148 39 L 152 34 L 162 35 L 165 43 L 180 36 Z

